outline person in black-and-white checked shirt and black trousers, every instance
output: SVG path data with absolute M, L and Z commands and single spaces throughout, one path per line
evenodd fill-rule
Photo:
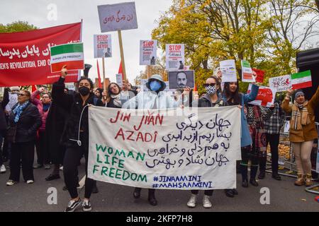
M 281 177 L 278 174 L 278 146 L 280 138 L 280 129 L 284 125 L 285 113 L 281 109 L 281 103 L 276 100 L 274 103 L 274 112 L 272 117 L 264 121 L 264 129 L 266 130 L 267 143 L 270 143 L 270 150 L 272 153 L 272 178 L 280 181 Z M 264 179 L 266 172 L 267 156 L 262 158 L 259 162 L 259 179 Z

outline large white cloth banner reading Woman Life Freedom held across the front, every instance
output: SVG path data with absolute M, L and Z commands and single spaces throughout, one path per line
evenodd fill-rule
M 149 189 L 233 189 L 238 131 L 236 106 L 145 111 L 91 106 L 88 177 Z

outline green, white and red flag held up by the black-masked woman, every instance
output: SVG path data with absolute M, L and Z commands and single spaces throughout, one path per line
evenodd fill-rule
M 67 65 L 68 70 L 84 69 L 83 43 L 51 47 L 51 72 L 61 71 L 64 65 Z

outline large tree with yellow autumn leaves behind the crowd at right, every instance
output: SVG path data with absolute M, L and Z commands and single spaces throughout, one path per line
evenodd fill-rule
M 185 44 L 185 64 L 196 71 L 198 85 L 226 59 L 235 59 L 238 76 L 241 59 L 266 71 L 267 85 L 269 77 L 296 71 L 296 52 L 318 45 L 316 4 L 313 0 L 173 0 L 152 38 L 163 50 L 165 44 Z M 241 87 L 247 90 L 247 83 Z

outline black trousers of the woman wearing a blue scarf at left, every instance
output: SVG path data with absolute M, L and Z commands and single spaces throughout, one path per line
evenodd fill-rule
M 34 180 L 33 177 L 34 141 L 12 143 L 10 159 L 10 177 L 15 182 L 20 180 L 20 165 L 22 162 L 23 179 Z

